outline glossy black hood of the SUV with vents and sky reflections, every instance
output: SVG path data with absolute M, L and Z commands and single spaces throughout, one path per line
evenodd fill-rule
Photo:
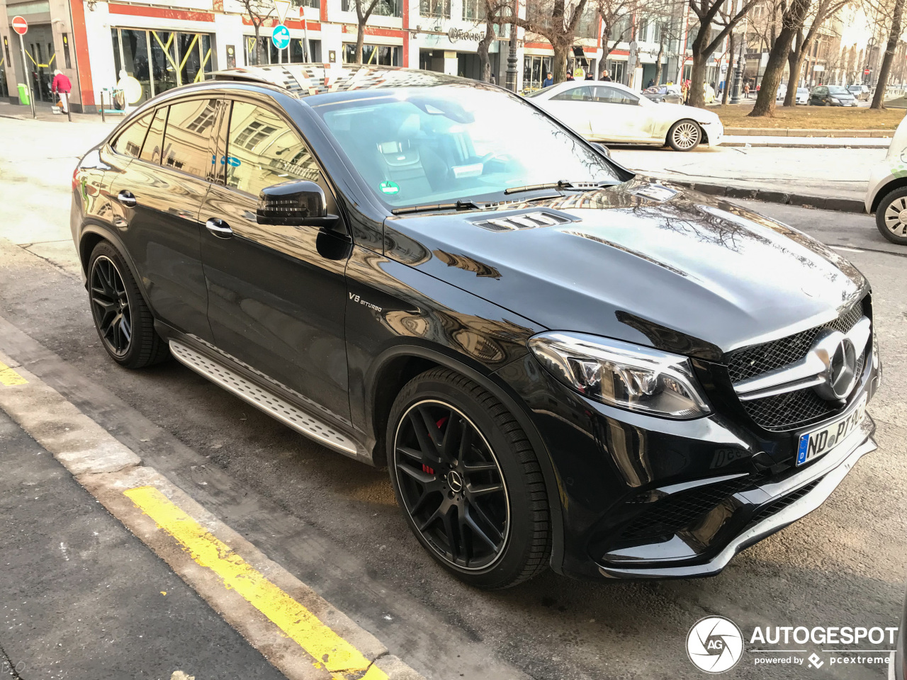
M 713 360 L 829 321 L 868 290 L 855 267 L 794 228 L 642 178 L 387 219 L 385 244 L 387 257 L 547 328 Z

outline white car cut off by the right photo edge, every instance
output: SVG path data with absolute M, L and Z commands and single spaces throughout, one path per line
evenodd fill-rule
M 865 206 L 883 237 L 907 246 L 907 118 L 894 131 L 885 160 L 869 174 Z

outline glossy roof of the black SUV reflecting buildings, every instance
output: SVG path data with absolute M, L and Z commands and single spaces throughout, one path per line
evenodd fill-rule
M 475 83 L 446 73 L 358 63 L 344 64 L 335 68 L 325 68 L 323 63 L 246 66 L 217 71 L 211 73 L 210 77 L 215 81 L 268 83 L 286 90 L 295 97 L 350 90 Z

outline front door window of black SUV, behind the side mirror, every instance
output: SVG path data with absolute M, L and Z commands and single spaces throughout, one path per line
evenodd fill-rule
M 312 154 L 282 118 L 255 104 L 233 102 L 227 136 L 227 186 L 258 196 L 261 189 L 280 182 L 320 179 Z

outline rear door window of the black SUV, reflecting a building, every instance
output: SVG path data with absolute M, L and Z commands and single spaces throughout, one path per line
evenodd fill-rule
M 161 164 L 206 179 L 212 167 L 210 137 L 216 113 L 216 99 L 172 104 Z

